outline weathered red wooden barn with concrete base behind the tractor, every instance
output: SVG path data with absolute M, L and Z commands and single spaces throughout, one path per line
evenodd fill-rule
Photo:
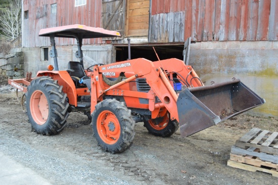
M 131 58 L 183 59 L 191 37 L 189 64 L 205 84 L 240 78 L 266 104 L 256 113 L 278 117 L 278 1 L 275 0 L 22 0 L 25 72 L 44 70 L 50 41 L 41 28 L 83 24 L 121 33 L 119 38 L 84 40 L 84 54 L 100 63 Z M 59 68 L 77 50 L 73 39 L 56 40 Z M 154 47 L 154 49 L 153 49 Z M 89 65 L 84 63 L 84 65 Z

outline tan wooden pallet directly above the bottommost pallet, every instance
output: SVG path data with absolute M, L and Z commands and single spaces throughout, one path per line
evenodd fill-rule
M 269 161 L 262 161 L 260 160 L 259 157 L 256 156 L 250 156 L 250 155 L 242 156 L 242 155 L 230 154 L 230 160 L 239 163 L 250 164 L 262 168 L 272 168 L 278 171 L 278 164 L 274 164 Z

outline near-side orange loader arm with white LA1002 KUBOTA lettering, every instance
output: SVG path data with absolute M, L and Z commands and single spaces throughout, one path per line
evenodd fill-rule
M 108 89 L 102 83 L 102 73 L 104 72 L 133 72 L 134 76 L 127 78 L 124 81 L 119 82 L 119 84 L 113 85 Z M 146 78 L 147 83 L 151 87 L 151 90 L 149 92 L 137 92 L 121 89 L 121 85 L 139 77 Z M 165 107 L 171 114 L 171 120 L 178 120 L 176 92 L 168 81 L 167 76 L 162 72 L 161 68 L 156 67 L 153 62 L 147 59 L 139 58 L 104 66 L 95 66 L 94 75 L 92 76 L 91 80 L 91 112 L 95 110 L 95 105 L 102 100 L 102 97 L 105 94 L 109 94 L 115 89 L 120 89 L 120 93 L 116 92 L 114 94 L 115 96 L 148 98 L 150 111 Z M 155 104 L 155 96 L 157 96 L 161 100 L 161 103 Z

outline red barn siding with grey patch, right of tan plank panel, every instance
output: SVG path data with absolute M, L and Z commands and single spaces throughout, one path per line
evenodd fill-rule
M 276 0 L 152 0 L 151 7 L 151 42 L 190 36 L 196 41 L 278 40 Z M 182 25 L 184 34 L 177 34 L 169 23 Z

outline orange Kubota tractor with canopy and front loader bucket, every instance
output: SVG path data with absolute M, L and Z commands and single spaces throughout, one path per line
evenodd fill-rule
M 178 59 L 138 58 L 84 70 L 82 39 L 120 36 L 116 31 L 69 25 L 42 29 L 39 36 L 51 39 L 54 70 L 9 83 L 26 92 L 27 115 L 40 134 L 58 134 L 69 113 L 80 111 L 91 116 L 99 145 L 120 153 L 131 146 L 136 122 L 156 136 L 179 127 L 188 136 L 265 102 L 239 79 L 204 86 L 192 66 Z M 69 62 L 66 71 L 58 68 L 55 37 L 77 40 L 80 61 Z

